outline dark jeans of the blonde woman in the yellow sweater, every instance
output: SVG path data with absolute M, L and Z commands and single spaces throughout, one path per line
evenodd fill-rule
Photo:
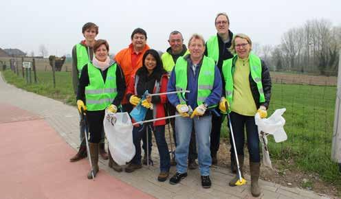
M 254 121 L 254 116 L 239 115 L 238 113 L 230 113 L 234 141 L 236 143 L 236 153 L 244 155 L 245 132 L 248 139 L 248 150 L 250 154 L 250 162 L 259 163 L 261 156 L 259 154 L 259 135 L 258 128 Z M 232 137 L 230 134 L 230 143 L 232 145 Z M 231 153 L 234 155 L 234 149 L 231 148 Z

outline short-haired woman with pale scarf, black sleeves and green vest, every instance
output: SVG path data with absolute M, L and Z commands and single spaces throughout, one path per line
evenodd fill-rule
M 103 131 L 105 109 L 117 112 L 126 90 L 124 76 L 119 65 L 109 58 L 109 44 L 106 40 L 96 40 L 95 57 L 82 69 L 77 92 L 77 108 L 87 110 L 89 125 L 89 150 L 94 176 L 98 172 L 98 143 Z M 110 157 L 111 158 L 111 157 Z M 110 161 L 109 161 L 110 163 Z M 91 179 L 91 171 L 87 174 Z

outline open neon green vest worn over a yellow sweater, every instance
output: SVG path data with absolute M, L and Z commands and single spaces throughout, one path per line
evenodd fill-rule
M 230 58 L 228 60 L 223 61 L 223 76 L 225 80 L 225 95 L 228 99 L 230 106 L 232 106 L 232 97 L 233 97 L 233 73 L 234 68 L 232 68 L 232 62 L 236 59 L 236 56 Z M 262 65 L 261 59 L 254 55 L 250 54 L 249 56 L 250 62 L 250 73 L 251 77 L 257 84 L 257 89 L 259 91 L 259 102 L 265 102 L 265 96 L 263 92 L 263 84 L 262 84 Z

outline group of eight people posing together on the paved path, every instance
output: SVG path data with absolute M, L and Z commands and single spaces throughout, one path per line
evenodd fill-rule
M 252 41 L 245 34 L 232 34 L 225 13 L 217 14 L 217 34 L 207 42 L 199 34 L 192 34 L 188 45 L 178 31 L 170 33 L 170 47 L 162 55 L 146 44 L 147 34 L 136 28 L 131 34 L 131 44 L 114 58 L 109 58 L 109 44 L 98 39 L 98 26 L 83 26 L 85 40 L 72 50 L 72 80 L 77 95 L 80 117 L 86 111 L 88 126 L 80 124 L 80 148 L 70 161 L 87 157 L 85 129 L 89 130 L 89 154 L 92 171 L 98 172 L 98 154 L 109 158 L 109 167 L 116 172 L 123 168 L 104 150 L 103 119 L 107 109 L 112 113 L 130 113 L 134 106 L 147 108 L 145 119 L 161 118 L 133 127 L 135 156 L 124 168 L 134 172 L 151 161 L 151 132 L 159 151 L 159 176 L 163 182 L 169 176 L 171 165 L 177 172 L 169 179 L 175 185 L 187 176 L 187 169 L 196 169 L 198 159 L 201 185 L 211 187 L 210 166 L 217 165 L 221 124 L 230 114 L 236 153 L 243 176 L 245 132 L 250 154 L 251 192 L 259 196 L 260 148 L 254 115 L 267 117 L 271 96 L 270 72 L 265 62 L 252 54 Z M 167 95 L 146 95 L 144 93 Z M 183 91 L 190 91 L 185 93 Z M 178 115 L 175 119 L 162 119 Z M 175 140 L 175 155 L 170 158 L 165 139 L 165 126 L 170 122 Z M 148 136 L 147 136 L 148 133 Z M 149 139 L 149 140 L 147 140 Z M 141 155 L 141 140 L 144 158 Z M 230 142 L 232 137 L 230 134 Z M 234 148 L 231 152 L 231 170 L 236 173 Z M 147 156 L 147 154 L 149 156 Z M 87 175 L 91 179 L 91 171 Z M 236 185 L 238 174 L 229 183 Z

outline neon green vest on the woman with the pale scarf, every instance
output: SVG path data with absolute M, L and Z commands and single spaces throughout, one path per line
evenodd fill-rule
M 89 85 L 85 87 L 87 110 L 104 110 L 113 102 L 117 95 L 116 67 L 116 63 L 109 67 L 104 84 L 100 70 L 88 63 Z

